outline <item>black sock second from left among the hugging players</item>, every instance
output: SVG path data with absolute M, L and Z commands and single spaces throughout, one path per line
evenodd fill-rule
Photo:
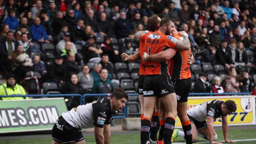
M 157 132 L 159 130 L 159 114 L 155 112 L 154 116 L 152 117 L 151 128 L 150 128 L 150 138 L 152 141 L 156 141 L 157 139 Z

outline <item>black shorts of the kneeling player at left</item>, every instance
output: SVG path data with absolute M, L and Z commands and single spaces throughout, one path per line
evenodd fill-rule
M 78 128 L 60 116 L 52 128 L 52 139 L 62 143 L 75 143 L 83 140 L 84 136 Z

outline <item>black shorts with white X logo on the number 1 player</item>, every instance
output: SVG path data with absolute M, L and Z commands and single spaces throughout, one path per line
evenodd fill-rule
M 143 83 L 144 97 L 163 97 L 175 93 L 170 76 L 152 75 L 145 76 Z

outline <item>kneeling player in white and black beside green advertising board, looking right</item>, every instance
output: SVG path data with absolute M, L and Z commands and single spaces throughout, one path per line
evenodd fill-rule
M 86 144 L 80 130 L 93 127 L 96 143 L 109 144 L 112 112 L 121 111 L 127 100 L 128 94 L 116 89 L 110 99 L 102 98 L 63 113 L 52 128 L 52 144 Z

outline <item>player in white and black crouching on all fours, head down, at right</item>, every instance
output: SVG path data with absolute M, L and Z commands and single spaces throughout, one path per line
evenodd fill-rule
M 217 134 L 213 129 L 214 118 L 222 119 L 222 130 L 225 142 L 236 143 L 228 139 L 228 120 L 227 115 L 236 111 L 236 103 L 232 100 L 226 102 L 219 100 L 206 101 L 202 104 L 197 105 L 187 111 L 188 117 L 191 121 L 192 132 L 187 131 L 186 133 L 192 133 L 192 141 L 197 142 L 198 136 L 208 139 L 211 144 L 222 144 L 217 142 Z M 207 120 L 207 122 L 206 122 Z M 173 139 L 177 136 L 185 137 L 183 131 L 175 129 L 172 135 Z

